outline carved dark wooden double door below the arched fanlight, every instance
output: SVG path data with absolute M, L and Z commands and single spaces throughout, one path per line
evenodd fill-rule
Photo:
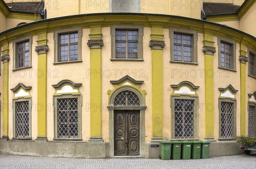
M 114 155 L 140 155 L 140 110 L 114 111 Z

